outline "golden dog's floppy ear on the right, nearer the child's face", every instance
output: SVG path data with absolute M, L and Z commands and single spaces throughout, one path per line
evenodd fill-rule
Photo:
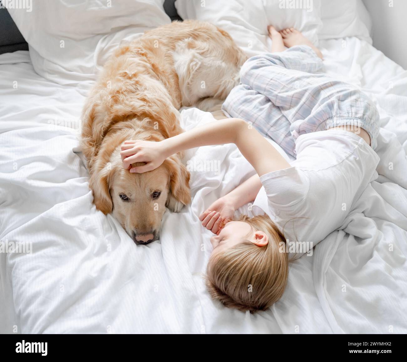
M 163 165 L 168 170 L 170 177 L 170 193 L 168 194 L 166 206 L 171 211 L 179 213 L 182 207 L 191 201 L 189 190 L 190 174 L 178 155 L 168 157 Z

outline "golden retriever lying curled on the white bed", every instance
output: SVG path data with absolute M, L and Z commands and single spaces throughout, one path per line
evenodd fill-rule
M 228 33 L 188 20 L 144 33 L 105 64 L 83 108 L 81 148 L 96 208 L 112 213 L 136 244 L 159 239 L 166 207 L 179 212 L 190 202 L 190 175 L 180 154 L 130 173 L 120 146 L 182 132 L 178 109 L 225 99 L 246 59 Z

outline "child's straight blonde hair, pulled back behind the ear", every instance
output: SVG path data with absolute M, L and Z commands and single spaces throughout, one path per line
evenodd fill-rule
M 288 254 L 280 250 L 284 235 L 267 215 L 241 215 L 239 221 L 263 231 L 268 244 L 260 247 L 245 240 L 215 254 L 208 262 L 206 286 L 226 307 L 253 313 L 269 308 L 284 293 Z

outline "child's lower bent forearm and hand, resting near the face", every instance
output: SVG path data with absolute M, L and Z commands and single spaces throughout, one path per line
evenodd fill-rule
M 224 222 L 232 220 L 234 212 L 241 206 L 256 199 L 261 188 L 260 178 L 257 174 L 241 183 L 236 189 L 216 200 L 206 209 L 199 220 L 202 226 L 206 226 L 212 233 L 217 234 Z

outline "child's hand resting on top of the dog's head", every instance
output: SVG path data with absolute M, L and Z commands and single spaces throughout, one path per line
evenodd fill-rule
M 120 156 L 123 167 L 130 170 L 131 173 L 152 171 L 159 167 L 167 157 L 161 142 L 125 141 L 121 146 L 121 150 Z M 131 167 L 131 164 L 135 162 L 146 162 L 146 165 Z

